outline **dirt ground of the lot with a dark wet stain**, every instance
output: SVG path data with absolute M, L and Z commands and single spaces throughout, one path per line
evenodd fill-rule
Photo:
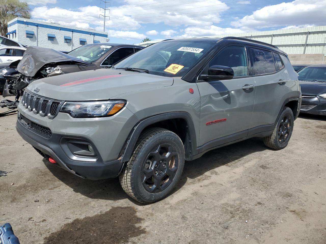
M 0 112 L 7 109 L 0 109 Z M 258 138 L 186 162 L 167 198 L 141 205 L 117 179 L 42 160 L 0 118 L 0 223 L 30 243 L 326 243 L 326 118 L 300 116 L 287 148 Z M 13 184 L 12 184 L 13 183 Z

